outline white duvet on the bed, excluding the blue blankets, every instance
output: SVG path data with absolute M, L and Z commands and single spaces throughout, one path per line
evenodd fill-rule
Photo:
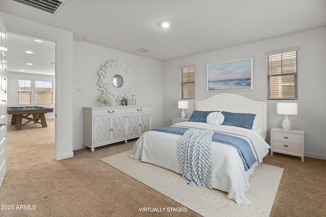
M 211 128 L 214 131 L 236 133 L 244 135 L 253 150 L 257 162 L 248 171 L 244 171 L 243 162 L 237 150 L 222 143 L 212 142 L 211 164 L 213 188 L 228 192 L 228 198 L 236 203 L 251 204 L 246 199 L 245 193 L 250 188 L 249 176 L 253 174 L 255 167 L 260 164 L 262 158 L 268 153 L 270 146 L 262 139 L 260 130 L 249 130 L 240 127 L 225 125 L 211 125 L 198 122 L 182 122 L 172 126 L 189 128 Z M 177 155 L 177 142 L 181 135 L 147 131 L 134 144 L 131 154 L 133 159 L 141 159 L 144 162 L 154 164 L 181 174 Z M 248 139 L 249 137 L 250 139 Z

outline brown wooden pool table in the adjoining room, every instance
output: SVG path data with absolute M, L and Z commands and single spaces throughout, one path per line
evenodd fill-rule
M 45 120 L 45 113 L 53 112 L 54 108 L 44 108 L 39 106 L 31 106 L 31 107 L 8 107 L 7 113 L 12 115 L 11 125 L 15 125 L 16 130 L 21 130 L 21 127 L 25 124 L 34 121 L 34 123 L 42 124 L 42 127 L 47 127 Z M 32 117 L 28 117 L 33 115 Z M 22 124 L 22 119 L 28 120 L 27 122 Z

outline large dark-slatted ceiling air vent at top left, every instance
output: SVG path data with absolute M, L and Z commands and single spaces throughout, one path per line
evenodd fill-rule
M 66 3 L 64 1 L 57 0 L 14 0 L 14 2 L 28 5 L 51 14 L 56 14 L 59 9 Z

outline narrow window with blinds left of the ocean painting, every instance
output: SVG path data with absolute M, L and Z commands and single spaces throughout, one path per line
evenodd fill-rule
M 195 98 L 195 65 L 181 67 L 181 99 Z

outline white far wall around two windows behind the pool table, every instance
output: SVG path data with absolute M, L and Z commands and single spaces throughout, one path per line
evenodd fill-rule
M 10 45 L 8 45 L 10 46 Z M 20 73 L 20 72 L 8 72 L 7 74 L 7 84 L 8 84 L 8 107 L 16 107 L 21 106 L 18 104 L 18 79 L 23 80 L 32 80 L 32 88 L 34 87 L 35 80 L 42 80 L 44 82 L 52 82 L 53 84 L 53 103 L 51 104 L 35 104 L 35 95 L 32 92 L 32 104 L 26 106 L 41 106 L 41 107 L 49 107 L 55 108 L 55 99 L 56 99 L 56 89 L 55 89 L 55 81 L 56 77 L 53 75 L 41 75 L 41 74 L 30 74 L 30 73 Z M 56 111 L 53 110 L 51 113 L 45 113 L 46 119 L 55 118 Z M 8 115 L 7 122 L 11 122 L 11 115 Z

